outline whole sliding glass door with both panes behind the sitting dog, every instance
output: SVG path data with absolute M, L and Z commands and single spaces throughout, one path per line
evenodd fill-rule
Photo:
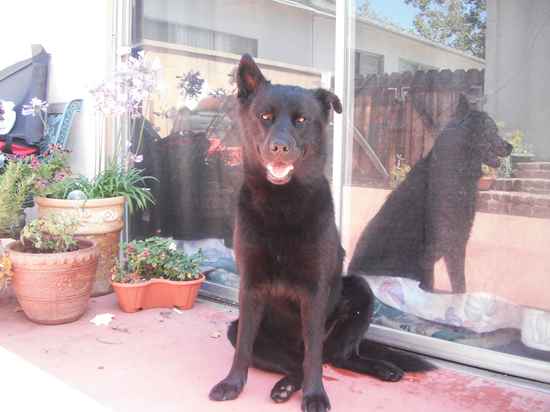
M 550 4 L 531 0 L 135 0 L 134 52 L 162 67 L 131 236 L 201 248 L 203 294 L 235 303 L 242 177 L 234 73 L 344 103 L 326 170 L 371 337 L 550 381 Z

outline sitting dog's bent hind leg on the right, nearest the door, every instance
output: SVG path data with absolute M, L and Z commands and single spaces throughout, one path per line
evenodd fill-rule
M 342 301 L 325 341 L 325 360 L 337 368 L 373 375 L 385 381 L 398 381 L 403 376 L 400 368 L 358 352 L 359 344 L 369 327 L 374 305 L 374 294 L 367 281 L 354 275 L 346 276 L 342 281 Z

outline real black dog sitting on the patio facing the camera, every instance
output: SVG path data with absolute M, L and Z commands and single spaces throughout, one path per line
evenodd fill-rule
M 303 387 L 302 409 L 324 412 L 330 403 L 323 362 L 388 381 L 403 374 L 388 360 L 427 368 L 361 342 L 373 295 L 363 278 L 342 277 L 344 250 L 323 174 L 329 116 L 342 110 L 338 98 L 323 89 L 272 85 L 247 55 L 237 84 L 244 163 L 234 233 L 240 319 L 228 331 L 236 349 L 231 370 L 210 399 L 236 398 L 254 365 L 284 375 L 271 392 L 275 402 Z M 369 350 L 385 360 L 363 356 Z

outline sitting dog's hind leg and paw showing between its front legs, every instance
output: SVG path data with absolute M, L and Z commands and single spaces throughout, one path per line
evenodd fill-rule
M 238 320 L 231 322 L 227 338 L 233 346 L 237 342 Z M 281 373 L 284 377 L 271 390 L 271 399 L 277 403 L 288 401 L 291 396 L 302 389 L 303 351 L 295 353 L 285 351 L 284 345 L 277 344 L 260 330 L 252 352 L 252 365 L 267 372 Z

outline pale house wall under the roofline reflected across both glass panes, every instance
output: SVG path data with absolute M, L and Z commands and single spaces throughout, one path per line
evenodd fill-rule
M 258 57 L 332 71 L 333 17 L 271 0 L 156 0 L 146 17 L 237 34 L 258 40 Z M 438 68 L 482 68 L 483 61 L 363 22 L 356 23 L 356 48 L 384 55 L 386 72 L 399 58 Z

